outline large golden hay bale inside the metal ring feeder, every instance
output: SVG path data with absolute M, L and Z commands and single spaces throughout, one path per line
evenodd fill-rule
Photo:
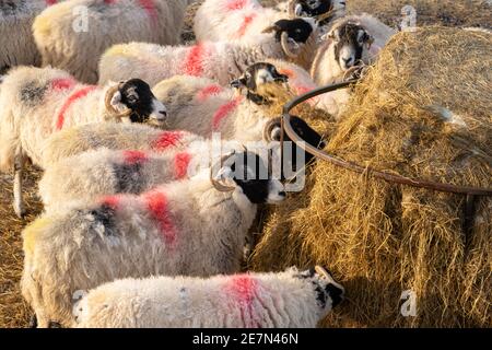
M 400 33 L 354 91 L 327 151 L 407 177 L 492 187 L 492 37 Z M 465 197 L 388 184 L 318 161 L 305 192 L 273 211 L 256 270 L 327 266 L 348 292 L 323 326 L 492 325 L 492 198 L 472 232 Z M 417 296 L 417 316 L 400 295 Z

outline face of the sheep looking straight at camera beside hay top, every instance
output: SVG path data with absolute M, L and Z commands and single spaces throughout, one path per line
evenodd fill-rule
M 335 59 L 342 71 L 359 65 L 364 50 L 371 48 L 374 38 L 359 24 L 347 23 L 335 28 L 328 37 L 332 40 Z

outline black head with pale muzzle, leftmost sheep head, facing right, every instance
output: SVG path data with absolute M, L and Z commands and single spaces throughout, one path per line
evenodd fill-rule
M 112 98 L 112 105 L 124 105 L 131 110 L 132 122 L 164 124 L 167 110 L 164 104 L 152 93 L 148 83 L 141 79 L 120 82 Z

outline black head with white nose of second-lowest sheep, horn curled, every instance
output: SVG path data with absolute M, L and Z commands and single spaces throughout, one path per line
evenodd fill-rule
M 253 152 L 233 153 L 214 178 L 227 186 L 238 187 L 255 205 L 276 203 L 286 196 L 282 183 L 271 178 L 268 166 Z

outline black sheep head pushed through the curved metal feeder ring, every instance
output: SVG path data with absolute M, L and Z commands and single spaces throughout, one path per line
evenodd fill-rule
M 294 129 L 295 133 L 297 133 L 306 143 L 316 147 L 319 150 L 325 148 L 326 144 L 325 141 L 323 141 L 323 137 L 300 117 L 292 116 L 291 126 Z M 272 120 L 272 122 L 266 126 L 266 138 L 268 139 L 268 141 L 280 142 L 281 133 L 282 128 L 280 125 L 280 119 L 274 119 Z M 284 133 L 283 140 L 292 141 L 286 133 Z M 284 152 L 284 162 L 286 162 L 288 168 L 292 170 L 293 173 L 295 173 L 302 166 L 309 163 L 313 160 L 314 155 L 305 152 L 303 149 L 301 149 L 293 142 L 291 142 L 290 144 L 291 144 L 290 152 Z M 304 153 L 304 158 L 297 158 L 297 154 L 300 154 L 301 152 Z M 286 154 L 290 154 L 291 156 L 285 159 Z M 297 159 L 303 159 L 304 164 L 297 164 Z M 282 178 L 283 175 L 284 174 L 282 174 Z

